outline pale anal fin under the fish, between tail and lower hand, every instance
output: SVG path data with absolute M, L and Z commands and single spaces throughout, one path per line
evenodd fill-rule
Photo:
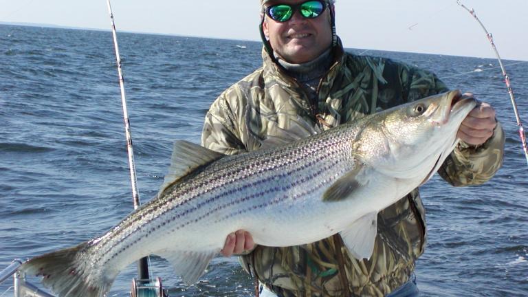
M 192 285 L 206 271 L 209 262 L 218 254 L 219 250 L 206 252 L 177 251 L 156 253 L 166 259 L 177 275 L 181 276 L 187 285 Z

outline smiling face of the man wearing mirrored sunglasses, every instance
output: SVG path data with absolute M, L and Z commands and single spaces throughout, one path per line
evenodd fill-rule
M 307 0 L 270 1 L 267 6 L 283 3 L 298 4 Z M 278 56 L 288 63 L 300 64 L 314 60 L 332 43 L 330 10 L 327 8 L 316 19 L 305 19 L 295 11 L 292 19 L 283 23 L 265 15 L 263 30 Z

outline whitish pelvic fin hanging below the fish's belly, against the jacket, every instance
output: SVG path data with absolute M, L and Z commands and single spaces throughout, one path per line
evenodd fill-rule
M 377 212 L 369 212 L 339 233 L 355 259 L 370 259 L 377 234 Z

